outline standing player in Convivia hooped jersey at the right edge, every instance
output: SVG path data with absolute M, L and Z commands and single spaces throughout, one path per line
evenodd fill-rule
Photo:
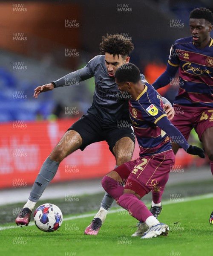
M 195 128 L 210 160 L 213 174 L 213 14 L 206 8 L 190 12 L 192 36 L 176 40 L 171 49 L 166 71 L 153 83 L 157 90 L 169 84 L 179 70 L 179 91 L 174 101 L 172 120 L 188 140 Z M 173 143 L 176 154 L 179 145 Z M 210 215 L 213 224 L 213 212 Z

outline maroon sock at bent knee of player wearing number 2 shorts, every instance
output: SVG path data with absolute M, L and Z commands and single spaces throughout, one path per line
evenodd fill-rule
M 121 184 L 113 180 L 112 178 L 105 176 L 103 177 L 101 184 L 104 188 L 104 190 L 111 195 L 115 200 L 118 200 L 118 198 L 123 194 L 124 187 L 121 186 Z

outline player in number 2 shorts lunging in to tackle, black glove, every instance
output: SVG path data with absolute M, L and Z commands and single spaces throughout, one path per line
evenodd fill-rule
M 169 227 L 160 223 L 140 199 L 161 183 L 164 189 L 175 155 L 171 138 L 180 138 L 178 144 L 189 154 L 204 158 L 204 151 L 189 145 L 178 129 L 169 121 L 161 96 L 141 81 L 139 69 L 127 63 L 115 72 L 118 89 L 130 94 L 129 113 L 140 147 L 139 158 L 118 166 L 102 180 L 105 191 L 129 214 L 147 225 L 141 238 L 167 235 Z M 170 137 L 169 137 L 170 136 Z M 125 182 L 125 187 L 121 185 Z

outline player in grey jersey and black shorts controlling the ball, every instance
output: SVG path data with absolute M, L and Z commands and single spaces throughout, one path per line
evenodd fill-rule
M 66 86 L 68 84 L 67 81 L 81 82 L 95 76 L 95 93 L 92 106 L 88 109 L 86 115 L 83 115 L 66 131 L 58 145 L 55 146 L 44 161 L 32 186 L 29 200 L 15 220 L 17 225 L 27 226 L 29 224 L 35 204 L 55 176 L 60 162 L 75 150 L 81 149 L 83 151 L 91 143 L 106 140 L 109 150 L 115 156 L 116 167 L 130 161 L 132 158 L 135 147 L 135 134 L 132 130 L 128 113 L 128 100 L 119 99 L 119 90 L 114 76 L 118 67 L 130 61 L 128 55 L 134 47 L 132 42 L 122 35 L 103 36 L 100 46 L 101 54 L 104 55 L 95 56 L 80 70 L 69 73 L 50 84 L 35 88 L 34 97 L 37 99 L 42 92 Z M 141 80 L 145 80 L 142 74 Z M 164 104 L 166 103 L 167 115 L 172 118 L 173 108 L 164 99 Z M 119 121 L 125 121 L 127 126 L 122 129 L 118 128 Z M 75 143 L 67 143 L 67 137 L 72 138 Z M 121 151 L 127 152 L 127 154 L 120 156 L 119 152 Z M 113 201 L 114 199 L 105 193 L 100 210 L 91 224 L 86 227 L 84 232 L 86 235 L 98 234 Z M 160 207 L 156 208 L 154 202 L 152 207 L 154 207 L 154 212 L 152 212 L 152 208 L 150 211 L 157 217 L 161 209 Z M 158 210 L 157 212 L 156 209 Z

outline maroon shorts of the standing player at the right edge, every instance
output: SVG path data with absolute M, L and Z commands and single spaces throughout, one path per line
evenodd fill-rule
M 204 131 L 213 126 L 213 109 L 174 105 L 174 110 L 175 116 L 171 122 L 186 140 L 189 139 L 193 128 L 195 128 L 199 140 L 201 140 Z

